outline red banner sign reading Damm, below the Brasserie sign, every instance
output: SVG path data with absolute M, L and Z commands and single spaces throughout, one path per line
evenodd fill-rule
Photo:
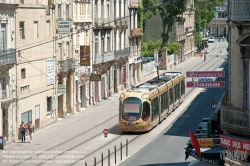
M 187 82 L 187 88 L 224 88 L 225 81 Z

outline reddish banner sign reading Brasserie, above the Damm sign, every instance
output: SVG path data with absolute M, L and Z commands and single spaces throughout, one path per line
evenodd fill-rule
M 225 77 L 225 71 L 187 71 L 187 77 Z

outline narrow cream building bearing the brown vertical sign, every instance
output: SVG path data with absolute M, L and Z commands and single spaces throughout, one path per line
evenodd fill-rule
M 93 83 L 89 76 L 93 65 L 93 7 L 94 1 L 73 1 L 73 55 L 76 59 L 74 104 L 76 110 L 86 108 L 94 104 Z M 104 20 L 96 20 L 102 22 Z M 82 59 L 86 57 L 86 63 Z

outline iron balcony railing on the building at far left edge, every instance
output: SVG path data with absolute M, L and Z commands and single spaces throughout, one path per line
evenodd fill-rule
M 0 66 L 16 63 L 16 49 L 0 50 Z

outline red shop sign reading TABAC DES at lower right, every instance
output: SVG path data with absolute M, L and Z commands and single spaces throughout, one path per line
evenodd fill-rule
M 220 145 L 229 149 L 250 152 L 250 141 L 244 141 L 220 135 Z

